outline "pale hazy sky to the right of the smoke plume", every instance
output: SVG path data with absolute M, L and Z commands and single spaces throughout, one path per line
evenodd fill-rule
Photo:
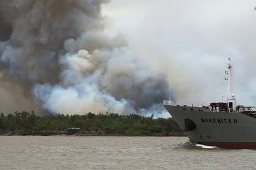
M 168 74 L 177 103 L 226 99 L 231 54 L 236 99 L 256 105 L 255 6 L 255 0 L 113 0 L 103 13 L 106 32 L 123 35 L 137 58 Z

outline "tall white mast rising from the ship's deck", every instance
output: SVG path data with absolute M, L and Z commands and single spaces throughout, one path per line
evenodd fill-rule
M 234 77 L 234 68 L 233 63 L 231 62 L 231 58 L 229 58 L 229 63 L 227 63 L 227 69 L 225 73 L 227 77 L 227 106 L 229 107 L 229 111 L 233 112 L 236 107 L 235 94 L 233 94 L 233 77 Z

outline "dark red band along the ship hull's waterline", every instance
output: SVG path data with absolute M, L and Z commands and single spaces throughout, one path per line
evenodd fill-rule
M 256 142 L 199 141 L 197 143 L 225 149 L 256 149 Z

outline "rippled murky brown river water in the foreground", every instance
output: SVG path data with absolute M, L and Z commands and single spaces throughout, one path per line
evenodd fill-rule
M 187 137 L 0 137 L 0 169 L 255 169 L 256 151 Z M 184 143 L 185 142 L 185 143 Z

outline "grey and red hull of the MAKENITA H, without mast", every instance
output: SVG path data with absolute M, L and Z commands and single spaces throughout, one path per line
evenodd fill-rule
M 212 112 L 205 107 L 165 105 L 165 108 L 193 143 L 256 149 L 256 118 L 240 112 Z

